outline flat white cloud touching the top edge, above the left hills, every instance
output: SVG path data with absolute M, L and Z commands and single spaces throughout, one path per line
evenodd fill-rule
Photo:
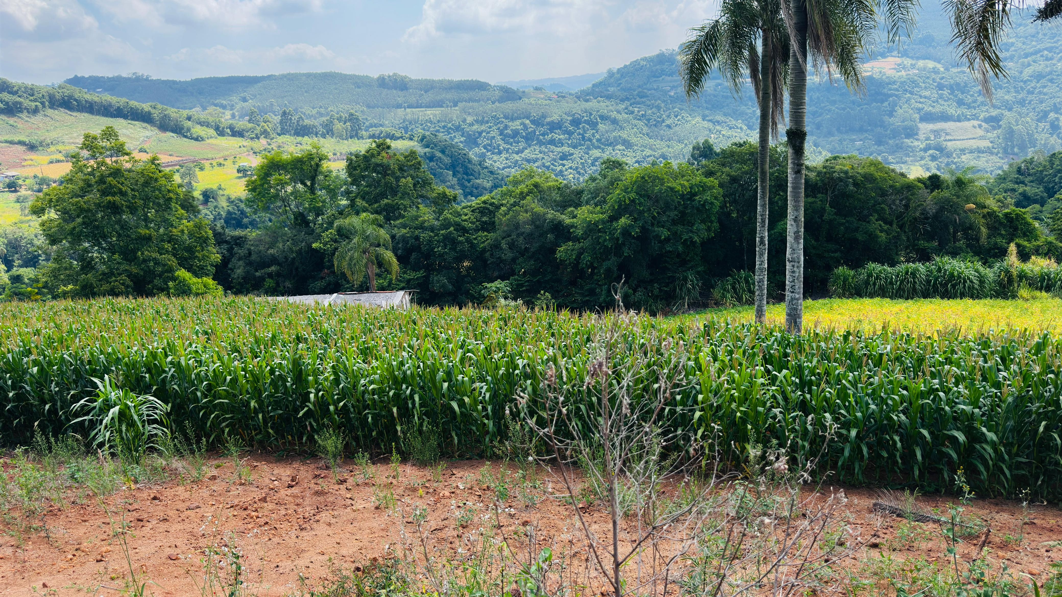
M 117 22 L 151 27 L 276 29 L 276 17 L 320 11 L 324 0 L 93 0 Z

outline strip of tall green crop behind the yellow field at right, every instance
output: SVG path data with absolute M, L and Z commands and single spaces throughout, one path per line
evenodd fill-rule
M 984 266 L 952 257 L 894 267 L 868 263 L 834 270 L 829 290 L 839 298 L 1016 298 L 1029 291 L 1062 296 L 1062 268 L 1054 261 Z

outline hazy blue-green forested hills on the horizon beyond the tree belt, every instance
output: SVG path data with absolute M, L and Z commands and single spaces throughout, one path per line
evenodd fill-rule
M 996 83 L 990 104 L 955 62 L 946 19 L 929 5 L 911 40 L 868 61 L 861 96 L 825 76 L 809 86 L 812 156 L 856 153 L 914 174 L 966 167 L 994 173 L 1038 150 L 1062 149 L 1062 27 L 1029 19 L 1014 18 L 1004 42 L 1010 79 Z M 756 126 L 752 93 L 734 97 L 718 78 L 700 99 L 687 101 L 674 52 L 612 69 L 578 91 L 335 72 L 191 81 L 78 76 L 68 83 L 227 121 L 249 120 L 254 108 L 272 115 L 281 135 L 330 136 L 354 112 L 364 118 L 365 136 L 436 133 L 502 172 L 535 166 L 571 181 L 592 173 L 602 157 L 681 160 L 695 141 L 708 137 L 724 146 L 753 138 Z M 285 108 L 294 114 L 288 127 Z

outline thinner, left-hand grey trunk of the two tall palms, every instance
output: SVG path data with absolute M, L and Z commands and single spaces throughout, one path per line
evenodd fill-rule
M 759 173 L 756 197 L 756 323 L 767 322 L 767 199 L 771 158 L 771 32 L 764 29 L 759 52 Z

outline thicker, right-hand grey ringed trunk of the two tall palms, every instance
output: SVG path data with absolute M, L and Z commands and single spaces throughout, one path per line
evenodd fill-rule
M 789 214 L 786 222 L 786 329 L 804 325 L 804 142 L 807 140 L 807 5 L 790 0 L 789 44 Z

